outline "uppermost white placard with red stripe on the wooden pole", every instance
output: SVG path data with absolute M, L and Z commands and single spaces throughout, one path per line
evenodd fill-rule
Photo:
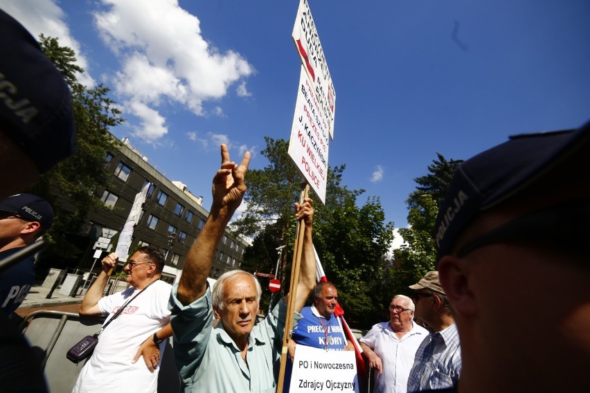
M 336 91 L 307 0 L 299 1 L 292 37 L 301 57 L 301 63 L 310 75 L 312 91 L 316 94 L 319 107 L 325 117 L 326 131 L 330 134 L 330 138 L 334 139 Z

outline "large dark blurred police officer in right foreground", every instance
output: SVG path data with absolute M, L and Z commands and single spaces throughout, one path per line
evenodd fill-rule
M 589 157 L 590 123 L 512 137 L 456 170 L 436 243 L 459 392 L 590 392 Z

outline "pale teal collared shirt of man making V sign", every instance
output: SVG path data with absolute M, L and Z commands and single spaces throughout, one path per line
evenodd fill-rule
M 213 328 L 211 288 L 184 307 L 172 288 L 170 309 L 175 360 L 182 390 L 188 392 L 274 392 L 274 367 L 283 347 L 287 304 L 279 301 L 272 313 L 249 335 L 247 362 L 222 323 Z M 295 313 L 294 324 L 301 318 Z M 278 372 L 278 367 L 276 368 Z

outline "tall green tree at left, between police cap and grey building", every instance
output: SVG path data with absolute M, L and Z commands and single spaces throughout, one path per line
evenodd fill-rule
M 60 46 L 53 37 L 40 35 L 39 39 L 45 55 L 71 88 L 77 131 L 77 152 L 40 176 L 28 190 L 46 199 L 55 211 L 53 226 L 46 233 L 50 246 L 42 253 L 39 266 L 64 267 L 81 253 L 78 234 L 88 212 L 102 205 L 93 192 L 107 183 L 105 154 L 116 143 L 109 127 L 124 120 L 115 102 L 107 97 L 107 87 L 98 85 L 87 89 L 78 82 L 76 75 L 84 70 L 75 64 L 75 52 L 71 48 Z M 68 198 L 58 202 L 55 195 Z

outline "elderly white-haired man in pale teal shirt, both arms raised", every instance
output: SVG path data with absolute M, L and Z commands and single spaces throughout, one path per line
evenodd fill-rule
M 254 326 L 260 284 L 244 271 L 230 271 L 211 289 L 207 275 L 215 248 L 246 192 L 244 175 L 250 162 L 230 161 L 221 146 L 222 165 L 213 178 L 211 212 L 190 249 L 178 286 L 172 289 L 175 358 L 184 392 L 275 392 L 275 364 L 280 358 L 287 304 L 280 300 L 272 313 Z M 301 273 L 294 299 L 296 320 L 315 286 L 312 247 L 312 200 L 295 204 L 295 217 L 305 225 Z M 220 323 L 213 328 L 213 314 Z

